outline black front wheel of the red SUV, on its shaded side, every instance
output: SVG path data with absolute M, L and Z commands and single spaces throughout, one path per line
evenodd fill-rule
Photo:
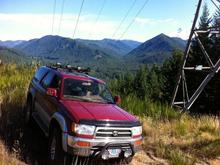
M 68 165 L 72 158 L 67 155 L 62 148 L 61 130 L 54 128 L 49 137 L 48 146 L 48 164 L 50 165 Z

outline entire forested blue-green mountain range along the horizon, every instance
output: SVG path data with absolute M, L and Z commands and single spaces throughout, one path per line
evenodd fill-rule
M 160 34 L 144 43 L 133 40 L 85 40 L 47 35 L 29 41 L 0 41 L 0 46 L 23 52 L 24 57 L 46 62 L 122 68 L 130 63 L 161 64 L 175 49 L 184 50 L 186 41 Z M 10 49 L 12 50 L 12 49 Z M 0 56 L 1 57 L 1 56 Z

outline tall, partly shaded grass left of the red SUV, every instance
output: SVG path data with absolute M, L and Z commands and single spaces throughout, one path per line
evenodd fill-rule
M 17 65 L 0 66 L 0 135 L 9 149 L 19 151 L 24 129 L 24 106 L 34 68 Z

